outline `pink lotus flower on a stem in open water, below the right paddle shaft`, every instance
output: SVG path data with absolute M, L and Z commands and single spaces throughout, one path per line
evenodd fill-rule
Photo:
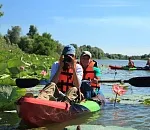
M 122 86 L 119 86 L 119 84 L 114 84 L 112 90 L 119 96 L 125 94 L 125 92 L 127 91 Z

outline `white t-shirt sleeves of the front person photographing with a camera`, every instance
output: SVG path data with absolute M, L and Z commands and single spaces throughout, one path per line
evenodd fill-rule
M 51 77 L 50 77 L 49 82 L 51 82 L 52 78 L 56 74 L 56 72 L 58 70 L 58 67 L 59 67 L 59 63 L 58 63 L 58 61 L 56 61 L 52 65 L 52 69 L 51 69 L 51 72 L 50 72 L 51 73 Z M 83 69 L 82 69 L 82 66 L 80 64 L 76 64 L 76 74 L 77 74 L 78 80 L 81 82 L 82 77 L 83 77 Z

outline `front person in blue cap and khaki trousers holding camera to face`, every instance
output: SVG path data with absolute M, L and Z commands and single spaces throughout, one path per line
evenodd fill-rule
M 81 85 L 83 69 L 76 62 L 75 48 L 67 45 L 62 51 L 59 61 L 52 65 L 50 83 L 44 87 L 38 98 L 48 100 L 62 100 L 62 93 L 65 93 L 70 100 L 78 97 L 77 91 Z

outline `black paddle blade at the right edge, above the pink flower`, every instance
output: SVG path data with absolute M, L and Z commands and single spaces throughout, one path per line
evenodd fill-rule
M 134 77 L 125 82 L 136 87 L 150 87 L 150 77 Z

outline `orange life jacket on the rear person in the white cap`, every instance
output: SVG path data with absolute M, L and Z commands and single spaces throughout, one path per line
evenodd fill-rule
M 94 73 L 94 69 L 93 69 L 94 64 L 95 64 L 95 62 L 91 61 L 90 64 L 87 66 L 87 68 L 83 69 L 83 80 L 93 80 L 96 77 L 96 75 Z M 100 78 L 98 78 L 98 79 L 100 79 Z M 91 82 L 90 86 L 93 88 L 99 88 L 100 84 Z

